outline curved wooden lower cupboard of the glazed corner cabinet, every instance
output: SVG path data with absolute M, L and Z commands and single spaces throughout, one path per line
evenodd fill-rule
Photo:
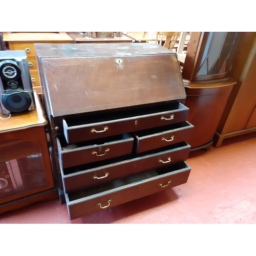
M 194 127 L 187 141 L 192 150 L 208 149 L 217 130 L 227 99 L 236 79 L 224 78 L 209 82 L 184 82 L 189 108 L 187 120 Z

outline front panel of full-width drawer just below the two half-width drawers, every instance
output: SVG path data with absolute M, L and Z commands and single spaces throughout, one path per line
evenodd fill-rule
M 136 157 L 130 160 L 79 171 L 74 174 L 65 175 L 63 174 L 63 170 L 61 170 L 63 183 L 66 192 L 69 193 L 70 191 L 82 189 L 86 186 L 99 185 L 125 176 L 145 172 L 148 169 L 161 168 L 185 161 L 189 150 L 190 146 L 186 144 L 173 150 L 146 155 L 144 157 Z M 74 168 L 74 170 L 76 169 Z

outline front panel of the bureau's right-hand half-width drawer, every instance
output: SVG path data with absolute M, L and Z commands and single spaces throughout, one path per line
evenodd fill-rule
M 185 122 L 184 127 L 180 127 L 174 130 L 166 130 L 161 133 L 138 136 L 135 133 L 135 139 L 137 143 L 137 153 L 152 150 L 167 145 L 172 145 L 181 141 L 187 141 L 190 139 L 193 132 L 194 125 Z

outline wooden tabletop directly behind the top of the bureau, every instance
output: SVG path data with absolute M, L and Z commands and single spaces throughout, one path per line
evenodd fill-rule
M 127 43 L 133 42 L 133 39 L 127 37 L 125 35 L 121 35 L 120 37 L 89 37 L 88 35 L 84 35 L 82 32 L 67 32 L 68 35 L 73 38 L 77 44 L 116 44 L 119 43 Z

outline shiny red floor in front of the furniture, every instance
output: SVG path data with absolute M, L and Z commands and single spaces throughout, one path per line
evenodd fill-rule
M 38 202 L 3 223 L 256 223 L 256 133 L 190 152 L 186 184 L 70 221 L 66 204 Z

